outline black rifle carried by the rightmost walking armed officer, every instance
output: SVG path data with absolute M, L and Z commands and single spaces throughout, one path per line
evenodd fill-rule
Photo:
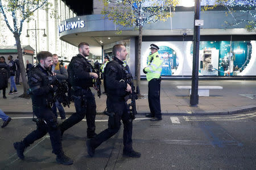
M 135 114 L 137 114 L 136 100 L 138 99 L 139 87 L 137 86 L 137 89 L 135 92 L 135 87 L 133 84 L 133 75 L 131 75 L 131 71 L 128 65 L 125 66 L 125 70 L 126 70 L 126 82 L 131 86 L 131 93 L 129 92 L 129 94 L 125 96 L 125 101 L 131 99 L 131 103 L 128 104 L 128 107 L 129 107 L 129 113 L 131 115 L 131 118 L 134 120 Z

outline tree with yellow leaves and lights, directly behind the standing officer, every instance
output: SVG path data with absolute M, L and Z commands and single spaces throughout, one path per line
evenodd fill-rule
M 179 0 L 102 0 L 101 14 L 123 27 L 139 30 L 137 62 L 137 86 L 141 84 L 141 44 L 144 24 L 166 21 L 171 16 L 170 8 L 176 7 Z M 141 94 L 139 94 L 141 96 Z

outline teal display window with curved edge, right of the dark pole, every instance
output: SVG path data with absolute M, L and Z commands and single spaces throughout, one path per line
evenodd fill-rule
M 192 49 L 193 44 L 191 55 Z M 250 58 L 250 41 L 201 41 L 199 72 L 202 75 L 236 76 L 246 68 Z

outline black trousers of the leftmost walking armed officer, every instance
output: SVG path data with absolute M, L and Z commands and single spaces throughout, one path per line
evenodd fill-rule
M 38 118 L 42 118 L 42 121 L 36 123 L 36 130 L 32 131 L 27 135 L 26 138 L 23 139 L 22 143 L 28 147 L 36 140 L 44 137 L 47 133 L 49 133 L 52 152 L 56 155 L 63 152 L 61 141 L 60 141 L 60 128 L 57 124 L 57 118 L 52 113 L 51 108 L 41 109 L 39 114 L 36 114 Z

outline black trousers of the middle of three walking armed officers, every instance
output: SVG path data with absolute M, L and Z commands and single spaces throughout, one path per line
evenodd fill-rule
M 81 92 L 81 91 L 80 91 Z M 86 116 L 87 136 L 95 133 L 96 103 L 92 91 L 82 90 L 82 95 L 78 91 L 72 91 L 76 113 L 73 113 L 60 125 L 60 130 L 65 131 L 80 122 Z

